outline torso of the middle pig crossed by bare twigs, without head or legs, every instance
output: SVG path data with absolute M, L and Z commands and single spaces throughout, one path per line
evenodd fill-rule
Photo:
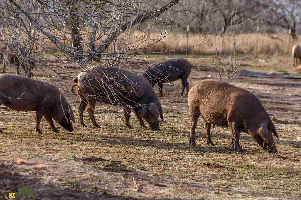
M 151 84 L 142 76 L 115 67 L 96 67 L 78 76 L 81 92 L 110 105 L 144 104 L 157 98 Z

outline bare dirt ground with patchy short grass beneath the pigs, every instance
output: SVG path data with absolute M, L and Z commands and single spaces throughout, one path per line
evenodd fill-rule
M 152 57 L 149 62 L 164 60 Z M 262 57 L 248 70 L 301 76 L 285 56 Z M 212 56 L 191 56 L 190 86 L 208 75 L 219 79 Z M 244 64 L 248 64 L 248 58 Z M 13 68 L 8 68 L 11 73 Z M 67 82 L 67 80 L 66 80 Z M 173 85 L 174 84 L 174 85 Z M 4 192 L 25 186 L 34 199 L 300 199 L 301 186 L 301 80 L 236 76 L 232 84 L 256 94 L 275 123 L 278 153 L 269 154 L 245 133 L 244 153 L 232 149 L 230 129 L 212 127 L 215 147 L 206 144 L 204 121 L 196 129 L 197 147 L 188 144 L 190 124 L 187 97 L 181 80 L 164 84 L 164 122 L 161 131 L 143 129 L 135 115 L 134 129 L 124 125 L 121 107 L 98 103 L 95 116 L 100 129 L 76 123 L 68 133 L 55 123 L 53 133 L 42 120 L 42 135 L 34 132 L 35 112 L 0 107 L 0 199 Z M 70 83 L 66 84 L 70 88 Z M 159 94 L 157 86 L 154 87 Z M 78 98 L 66 93 L 78 122 Z M 15 199 L 20 199 L 16 197 Z

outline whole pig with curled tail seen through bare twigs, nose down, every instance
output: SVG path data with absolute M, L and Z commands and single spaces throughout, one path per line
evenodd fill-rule
M 100 128 L 94 117 L 95 103 L 122 105 L 125 125 L 130 125 L 130 114 L 133 110 L 141 127 L 146 128 L 144 118 L 151 129 L 160 130 L 158 117 L 163 121 L 163 110 L 151 84 L 141 75 L 116 67 L 96 67 L 82 71 L 73 81 L 80 97 L 78 107 L 79 122 L 83 122 L 83 112 L 88 104 L 88 113 L 93 126 Z M 73 88 L 72 88 L 73 89 Z M 74 91 L 74 90 L 73 90 Z

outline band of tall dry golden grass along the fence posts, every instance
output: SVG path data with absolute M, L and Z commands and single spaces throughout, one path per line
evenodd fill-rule
M 190 33 L 169 33 L 166 37 L 158 41 L 162 34 L 160 32 L 144 33 L 142 31 L 136 31 L 131 36 L 119 37 L 116 42 L 117 46 L 124 46 L 128 50 L 132 50 L 131 53 L 146 53 L 146 52 L 163 52 L 172 51 L 172 53 L 186 53 L 189 48 L 189 54 L 214 54 L 216 52 L 233 52 L 233 38 L 232 36 L 225 35 L 214 36 L 210 35 L 206 38 L 204 34 L 192 34 Z M 88 35 L 83 35 L 83 42 L 88 43 Z M 188 39 L 187 39 L 188 38 Z M 198 44 L 202 39 L 200 44 Z M 62 42 L 67 45 L 71 45 L 71 35 L 64 36 Z M 103 40 L 105 38 L 102 38 Z M 267 54 L 267 55 L 285 55 L 290 54 L 294 44 L 301 44 L 301 40 L 293 41 L 289 35 L 285 34 L 242 34 L 237 36 L 237 43 L 235 45 L 236 53 L 244 53 L 245 50 L 250 50 L 255 54 Z M 257 41 L 257 42 L 256 42 Z M 57 50 L 57 47 L 51 43 L 51 41 L 45 41 L 47 48 Z M 100 41 L 96 41 L 96 44 L 100 44 Z M 143 48 L 150 46 L 150 48 Z M 197 46 L 195 46 L 198 44 Z M 194 46 L 194 47 L 193 47 Z M 87 48 L 84 47 L 84 50 Z M 176 51 L 175 51 L 176 50 Z M 108 52 L 114 52 L 114 46 L 110 45 L 107 49 Z

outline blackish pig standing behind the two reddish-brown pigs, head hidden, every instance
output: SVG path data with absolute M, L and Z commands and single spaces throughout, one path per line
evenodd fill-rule
M 164 62 L 159 62 L 153 67 L 148 67 L 142 74 L 154 87 L 158 83 L 160 96 L 163 96 L 163 83 L 172 82 L 181 78 L 182 92 L 186 87 L 186 92 L 189 91 L 189 83 L 187 78 L 191 72 L 192 65 L 183 58 L 170 59 Z M 186 95 L 187 95 L 186 94 Z

